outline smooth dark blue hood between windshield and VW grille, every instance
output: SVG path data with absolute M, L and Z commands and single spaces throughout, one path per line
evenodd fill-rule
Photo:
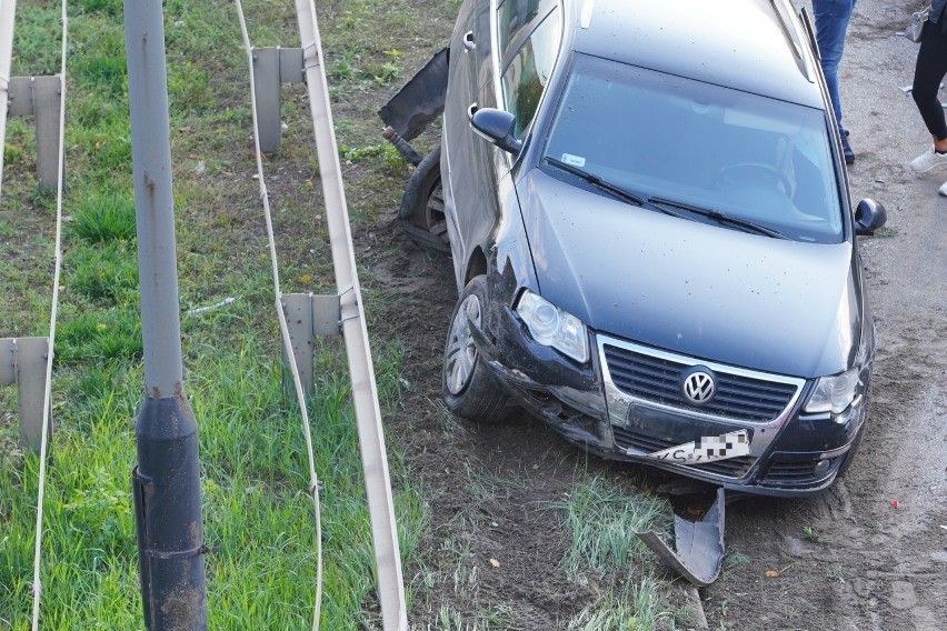
M 853 247 L 669 217 L 535 169 L 517 186 L 540 293 L 594 330 L 796 377 L 850 365 Z

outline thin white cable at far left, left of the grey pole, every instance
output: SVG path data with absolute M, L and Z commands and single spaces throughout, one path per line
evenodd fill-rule
M 62 49 L 60 63 L 59 92 L 59 172 L 56 177 L 56 268 L 52 274 L 52 309 L 49 317 L 49 344 L 46 355 L 46 393 L 42 401 L 42 438 L 40 442 L 40 468 L 37 491 L 37 537 L 36 554 L 33 558 L 33 631 L 39 630 L 40 594 L 40 561 L 42 552 L 42 504 L 46 492 L 46 454 L 49 442 L 50 400 L 52 390 L 52 359 L 56 342 L 56 319 L 59 312 L 59 273 L 62 268 L 62 173 L 66 168 L 66 0 L 62 0 Z

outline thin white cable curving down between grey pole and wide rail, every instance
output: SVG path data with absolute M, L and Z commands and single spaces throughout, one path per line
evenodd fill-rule
M 263 214 L 267 220 L 267 239 L 269 240 L 270 261 L 272 263 L 273 274 L 273 292 L 276 293 L 276 309 L 279 318 L 280 337 L 282 338 L 285 348 L 292 348 L 289 339 L 289 325 L 286 322 L 286 313 L 282 310 L 282 292 L 279 287 L 279 264 L 277 262 L 276 239 L 273 237 L 272 217 L 270 214 L 270 201 L 267 193 L 267 184 L 263 180 L 263 162 L 260 158 L 260 128 L 257 121 L 257 90 L 253 80 L 253 51 L 250 46 L 250 37 L 247 34 L 247 23 L 243 19 L 243 7 L 240 0 L 233 0 L 237 6 L 237 16 L 240 19 L 240 32 L 243 36 L 243 47 L 247 49 L 247 60 L 250 66 L 250 103 L 253 110 L 253 144 L 256 151 L 253 153 L 257 160 L 257 178 L 260 182 L 260 199 L 263 202 Z M 286 353 L 289 360 L 289 368 L 292 372 L 292 384 L 296 389 L 296 399 L 299 404 L 299 410 L 302 413 L 302 433 L 306 435 L 306 451 L 309 457 L 309 492 L 312 494 L 312 502 L 316 507 L 316 603 L 312 613 L 312 630 L 319 629 L 319 617 L 322 604 L 322 521 L 321 509 L 319 505 L 319 478 L 316 475 L 316 458 L 312 453 L 312 435 L 309 430 L 309 413 L 306 409 L 306 395 L 302 390 L 302 380 L 299 378 L 299 369 L 296 365 L 296 355 Z

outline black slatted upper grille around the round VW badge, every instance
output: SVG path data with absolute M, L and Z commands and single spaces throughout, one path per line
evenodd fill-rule
M 681 372 L 694 364 L 608 343 L 602 344 L 602 348 L 611 381 L 619 390 L 639 399 L 681 410 L 741 421 L 768 422 L 782 413 L 798 391 L 795 383 L 747 377 L 714 368 L 717 393 L 708 404 L 697 408 L 688 404 L 679 385 Z

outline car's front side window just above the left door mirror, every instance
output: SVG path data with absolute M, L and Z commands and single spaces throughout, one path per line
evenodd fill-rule
M 552 11 L 532 31 L 504 71 L 504 102 L 507 111 L 516 117 L 517 138 L 522 138 L 536 116 L 556 64 L 559 38 L 559 12 Z

